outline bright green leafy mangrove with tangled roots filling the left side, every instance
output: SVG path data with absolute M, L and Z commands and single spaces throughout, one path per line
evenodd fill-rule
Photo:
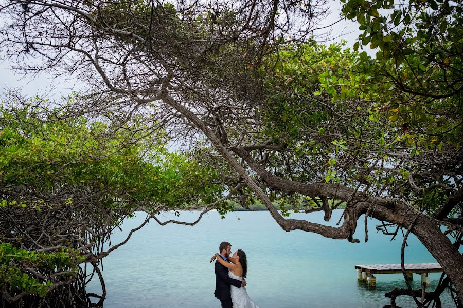
M 98 265 L 152 214 L 222 196 L 223 187 L 213 183 L 214 168 L 168 152 L 162 139 L 148 140 L 147 127 L 132 122 L 116 129 L 84 117 L 59 120 L 56 110 L 57 117 L 49 117 L 37 108 L 7 108 L 10 104 L 18 105 L 12 98 L 3 101 L 0 119 L 3 304 L 88 306 L 89 296 L 102 300 Z M 144 222 L 126 240 L 104 246 L 135 210 L 148 213 Z M 85 292 L 94 274 L 102 296 Z

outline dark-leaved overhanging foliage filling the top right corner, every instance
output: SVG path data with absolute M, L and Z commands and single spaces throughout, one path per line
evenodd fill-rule
M 459 146 L 461 7 L 448 1 L 412 1 L 409 5 L 347 1 L 343 12 L 357 19 L 364 31 L 361 44 L 378 48 L 376 59 L 362 52 L 353 63 L 355 78 L 364 84 L 353 90 L 369 92 L 369 98 L 388 108 L 403 131 L 413 126 L 428 136 L 425 142 L 434 140 L 440 148 Z M 429 123 L 441 130 L 435 131 Z

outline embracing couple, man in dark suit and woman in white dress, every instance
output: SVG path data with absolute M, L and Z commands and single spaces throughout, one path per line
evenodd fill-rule
M 231 244 L 222 242 L 220 254 L 215 254 L 210 262 L 216 260 L 216 291 L 214 295 L 220 300 L 222 308 L 259 308 L 246 291 L 247 260 L 246 254 L 238 249 L 231 255 Z

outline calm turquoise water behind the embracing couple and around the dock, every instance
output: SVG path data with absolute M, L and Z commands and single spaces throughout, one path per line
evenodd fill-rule
M 334 225 L 342 210 L 334 211 Z M 177 219 L 194 221 L 199 213 L 181 213 Z M 325 223 L 323 213 L 292 214 L 292 218 Z M 174 218 L 171 213 L 161 220 Z M 238 219 L 239 218 L 239 219 Z M 122 241 L 130 230 L 145 219 L 143 213 L 124 223 L 123 232 L 112 243 Z M 284 232 L 266 211 L 236 212 L 224 220 L 215 211 L 203 216 L 195 226 L 151 221 L 132 235 L 103 261 L 106 284 L 105 307 L 220 307 L 213 296 L 215 276 L 210 257 L 222 241 L 241 248 L 248 259 L 247 292 L 264 307 L 383 307 L 389 304 L 386 292 L 406 288 L 402 274 L 377 275 L 376 288 L 357 282 L 355 264 L 400 263 L 402 236 L 377 233 L 377 220 L 368 219 L 368 242 L 364 242 L 363 217 L 355 237 L 360 244 L 332 240 L 317 234 Z M 434 258 L 410 236 L 405 263 L 431 263 Z M 440 273 L 430 274 L 434 290 Z M 419 288 L 420 276 L 414 274 L 412 286 Z M 100 294 L 96 281 L 88 292 Z M 452 307 L 450 295 L 442 298 L 443 307 Z M 397 304 L 412 307 L 413 299 L 399 297 Z M 415 305 L 416 307 L 416 305 Z

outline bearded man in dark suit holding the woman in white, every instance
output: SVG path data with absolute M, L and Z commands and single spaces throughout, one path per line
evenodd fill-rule
M 227 258 L 231 254 L 231 244 L 228 242 L 220 243 L 219 253 L 225 261 L 229 262 Z M 214 270 L 216 271 L 216 291 L 214 295 L 222 303 L 222 308 L 231 308 L 233 304 L 231 303 L 230 285 L 240 288 L 246 286 L 246 280 L 243 279 L 241 284 L 241 281 L 228 277 L 229 269 L 220 264 L 219 261 L 216 261 Z

